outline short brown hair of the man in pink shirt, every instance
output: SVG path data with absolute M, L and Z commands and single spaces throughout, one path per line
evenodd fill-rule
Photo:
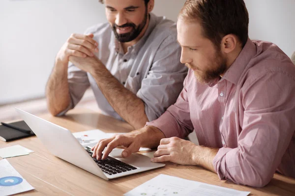
M 218 48 L 228 34 L 235 34 L 242 47 L 248 39 L 249 15 L 243 0 L 186 0 L 178 19 L 200 21 L 204 36 Z

